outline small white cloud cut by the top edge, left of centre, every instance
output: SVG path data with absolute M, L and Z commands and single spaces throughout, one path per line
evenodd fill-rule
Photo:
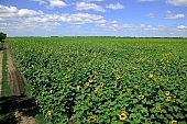
M 48 0 L 48 1 L 50 1 L 50 8 L 64 8 L 68 5 L 62 0 Z

